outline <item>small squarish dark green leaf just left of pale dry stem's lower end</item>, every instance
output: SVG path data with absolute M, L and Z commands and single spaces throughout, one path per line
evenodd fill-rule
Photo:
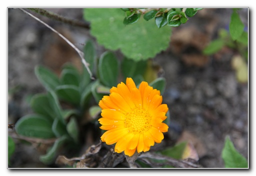
M 61 84 L 75 85 L 80 84 L 80 75 L 77 70 L 63 69 L 60 75 Z

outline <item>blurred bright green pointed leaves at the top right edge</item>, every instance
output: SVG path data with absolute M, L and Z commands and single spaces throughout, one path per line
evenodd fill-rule
M 229 32 L 226 29 L 220 29 L 218 37 L 203 49 L 203 53 L 211 55 L 224 46 L 238 50 L 245 59 L 248 58 L 248 32 L 244 31 L 244 24 L 241 22 L 237 9 L 233 9 L 231 14 Z

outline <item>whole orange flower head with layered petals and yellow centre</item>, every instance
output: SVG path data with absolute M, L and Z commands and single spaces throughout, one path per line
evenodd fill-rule
M 109 96 L 99 101 L 100 128 L 105 131 L 100 137 L 106 144 L 115 144 L 115 152 L 131 156 L 137 152 L 148 151 L 154 142 L 160 143 L 162 132 L 168 126 L 162 121 L 166 118 L 168 107 L 162 103 L 160 91 L 142 81 L 136 88 L 132 78 L 126 78 L 110 89 Z

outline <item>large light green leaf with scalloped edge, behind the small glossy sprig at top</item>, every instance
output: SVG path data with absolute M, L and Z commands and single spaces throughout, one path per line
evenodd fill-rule
M 170 27 L 159 29 L 153 20 L 141 18 L 132 25 L 124 25 L 124 13 L 119 8 L 85 8 L 84 18 L 90 21 L 91 34 L 99 44 L 120 49 L 128 58 L 148 59 L 168 47 Z

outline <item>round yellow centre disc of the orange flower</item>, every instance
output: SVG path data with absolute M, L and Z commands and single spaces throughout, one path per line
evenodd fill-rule
M 129 132 L 143 133 L 151 127 L 151 115 L 142 108 L 133 108 L 130 112 L 125 113 L 125 127 Z

